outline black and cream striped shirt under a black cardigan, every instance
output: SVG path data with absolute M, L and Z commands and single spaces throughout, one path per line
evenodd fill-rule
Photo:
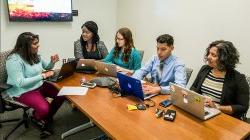
M 212 71 L 210 71 L 202 83 L 202 95 L 208 96 L 212 98 L 214 102 L 220 103 L 224 79 L 225 78 L 214 77 Z

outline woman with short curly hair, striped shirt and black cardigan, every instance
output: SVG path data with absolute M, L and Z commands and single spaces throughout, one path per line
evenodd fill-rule
M 191 90 L 205 95 L 205 105 L 236 118 L 241 118 L 249 107 L 249 87 L 244 74 L 235 70 L 239 53 L 232 42 L 212 42 L 205 53 L 204 65 Z

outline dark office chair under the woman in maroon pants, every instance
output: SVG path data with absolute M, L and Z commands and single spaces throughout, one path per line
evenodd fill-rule
M 5 51 L 0 53 L 0 113 L 4 113 L 5 111 L 13 111 L 17 109 L 23 110 L 23 117 L 21 119 L 9 119 L 9 120 L 0 120 L 0 125 L 2 123 L 7 122 L 13 122 L 13 121 L 19 121 L 17 125 L 4 137 L 4 139 L 8 139 L 8 137 L 22 124 L 24 124 L 25 128 L 28 128 L 28 114 L 27 110 L 29 107 L 26 105 L 15 101 L 11 97 L 9 97 L 7 94 L 4 93 L 7 89 L 9 89 L 11 86 L 6 84 L 7 81 L 7 72 L 5 69 L 5 60 L 6 57 L 10 51 Z

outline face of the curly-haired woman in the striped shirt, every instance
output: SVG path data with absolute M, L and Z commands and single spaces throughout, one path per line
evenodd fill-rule
M 216 47 L 211 47 L 207 56 L 207 63 L 210 67 L 216 68 L 218 66 L 218 53 Z

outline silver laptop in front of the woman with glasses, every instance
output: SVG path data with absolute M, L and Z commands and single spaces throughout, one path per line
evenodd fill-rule
M 96 61 L 96 68 L 101 74 L 105 74 L 108 76 L 116 77 L 116 65 L 115 64 L 108 64 L 100 61 Z

